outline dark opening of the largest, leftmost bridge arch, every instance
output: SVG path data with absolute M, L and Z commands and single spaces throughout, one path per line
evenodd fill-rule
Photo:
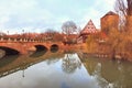
M 14 48 L 10 48 L 10 47 L 0 46 L 0 50 L 4 51 L 4 55 L 19 55 L 20 54 L 19 51 Z

